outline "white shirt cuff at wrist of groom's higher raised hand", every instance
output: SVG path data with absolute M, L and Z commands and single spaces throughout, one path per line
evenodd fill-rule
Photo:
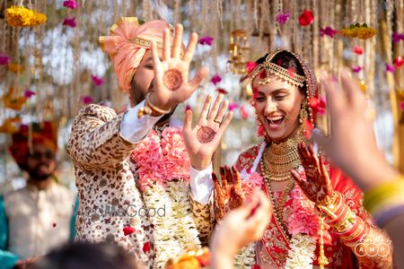
M 145 100 L 136 105 L 135 108 L 128 108 L 120 124 L 120 135 L 131 143 L 137 143 L 144 139 L 155 123 L 162 117 L 144 115 L 137 117 L 137 111 L 145 107 Z

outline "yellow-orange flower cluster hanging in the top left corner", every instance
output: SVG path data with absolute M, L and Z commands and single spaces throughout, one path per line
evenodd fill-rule
M 13 27 L 32 27 L 47 22 L 48 17 L 44 13 L 13 5 L 5 10 L 5 22 Z

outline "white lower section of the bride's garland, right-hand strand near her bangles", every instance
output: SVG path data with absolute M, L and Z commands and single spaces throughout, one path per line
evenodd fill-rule
M 316 257 L 316 239 L 302 233 L 296 234 L 289 246 L 285 269 L 312 268 L 312 262 Z

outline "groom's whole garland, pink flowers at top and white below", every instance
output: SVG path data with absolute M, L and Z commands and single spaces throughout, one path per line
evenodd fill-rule
M 162 140 L 155 133 L 151 133 L 144 143 L 138 145 L 132 157 L 139 167 L 145 166 L 145 169 L 140 169 L 142 172 L 139 173 L 139 177 L 143 176 L 140 181 L 141 185 L 143 184 L 146 208 L 157 210 L 165 206 L 164 216 L 159 216 L 157 213 L 149 216 L 149 220 L 154 225 L 154 268 L 164 268 L 169 258 L 179 256 L 188 248 L 200 247 L 197 224 L 189 203 L 189 182 L 186 179 L 183 180 L 181 176 L 184 175 L 184 170 L 181 168 L 187 165 L 189 167 L 189 160 L 182 160 L 184 158 L 181 154 L 183 154 L 185 146 L 179 135 L 180 131 L 167 128 L 162 133 L 164 143 L 166 143 L 162 150 L 160 146 Z M 164 153 L 164 151 L 168 151 L 170 154 Z M 148 152 L 151 152 L 150 155 Z M 170 162 L 171 168 L 162 167 L 162 163 L 156 164 L 162 161 L 154 159 L 159 154 Z M 175 165 L 179 160 L 181 160 L 180 165 Z M 151 172 L 148 165 L 152 163 L 162 170 Z M 163 173 L 163 169 L 165 172 L 171 169 L 171 180 L 163 181 L 161 174 L 155 174 Z M 178 175 L 178 178 L 172 175 Z M 160 178 L 155 178 L 158 176 Z M 189 173 L 187 176 L 189 177 Z

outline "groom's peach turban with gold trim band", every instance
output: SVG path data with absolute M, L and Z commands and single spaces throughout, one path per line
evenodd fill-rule
M 165 21 L 140 24 L 136 17 L 124 17 L 112 25 L 109 36 L 100 37 L 101 49 L 112 60 L 120 89 L 129 91 L 137 66 L 147 49 L 152 48 L 151 41 L 156 41 L 157 48 L 162 48 L 162 32 L 167 28 L 170 29 L 170 25 Z

